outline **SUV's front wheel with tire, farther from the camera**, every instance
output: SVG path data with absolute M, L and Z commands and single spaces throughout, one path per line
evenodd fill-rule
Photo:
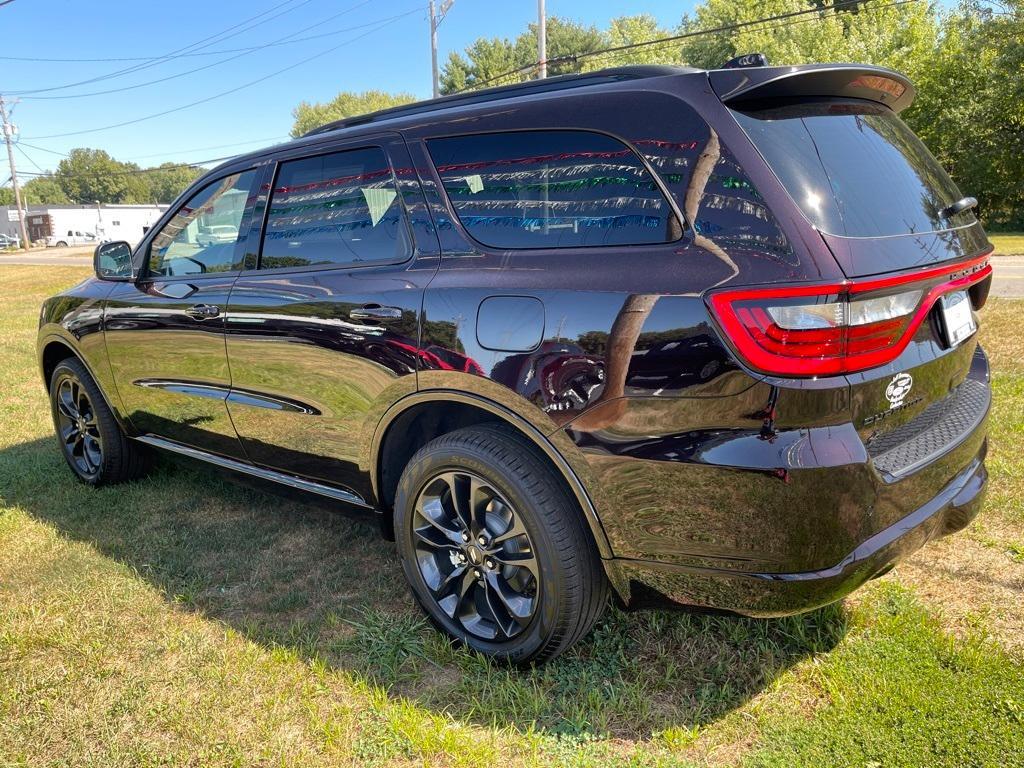
M 148 452 L 125 435 L 78 358 L 68 357 L 53 370 L 50 409 L 60 452 L 79 480 L 106 485 L 145 473 Z

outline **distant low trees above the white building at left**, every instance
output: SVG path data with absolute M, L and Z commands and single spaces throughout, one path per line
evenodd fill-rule
M 175 163 L 141 168 L 102 150 L 72 150 L 53 173 L 22 184 L 24 205 L 170 203 L 203 173 Z M 14 193 L 0 188 L 0 205 L 14 205 Z

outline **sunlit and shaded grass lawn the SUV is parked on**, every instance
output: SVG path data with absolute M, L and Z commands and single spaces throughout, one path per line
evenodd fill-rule
M 1024 303 L 992 300 L 985 511 L 841 605 L 610 610 L 510 672 L 454 650 L 369 525 L 163 461 L 90 489 L 41 298 L 0 266 L 0 765 L 1024 766 Z

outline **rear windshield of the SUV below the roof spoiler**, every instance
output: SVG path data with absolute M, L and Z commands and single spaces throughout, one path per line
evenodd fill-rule
M 970 212 L 939 215 L 962 195 L 921 139 L 885 106 L 829 100 L 733 114 L 824 232 L 878 238 L 974 221 Z

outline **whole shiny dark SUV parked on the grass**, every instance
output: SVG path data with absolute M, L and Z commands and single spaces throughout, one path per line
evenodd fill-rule
M 991 248 L 913 93 L 626 68 L 239 157 L 45 302 L 61 450 L 91 484 L 159 447 L 366 510 L 427 614 L 516 664 L 609 593 L 837 600 L 986 483 Z

